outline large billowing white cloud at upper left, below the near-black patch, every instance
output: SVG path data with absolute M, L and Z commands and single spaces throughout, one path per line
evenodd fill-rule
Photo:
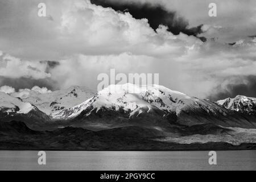
M 59 60 L 76 53 L 176 56 L 185 51 L 184 44 L 200 42 L 192 36 L 177 38 L 164 27 L 156 33 L 147 19 L 134 19 L 129 13 L 117 13 L 88 0 L 46 1 L 54 21 L 39 18 L 33 3 L 10 4 L 17 12 L 6 16 L 1 7 L 0 17 L 6 21 L 0 25 L 5 27 L 0 49 L 26 60 Z M 23 23 L 10 23 L 16 16 L 22 16 Z

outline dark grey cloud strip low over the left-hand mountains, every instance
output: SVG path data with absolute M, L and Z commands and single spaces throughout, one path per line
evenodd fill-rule
M 39 86 L 39 87 L 46 87 L 49 90 L 57 90 L 59 89 L 57 87 L 57 84 L 55 81 L 51 80 L 50 78 L 47 79 L 39 79 L 34 80 L 31 78 L 6 78 L 0 76 L 0 86 L 8 85 L 13 88 L 15 88 L 16 91 L 19 89 L 28 88 L 31 89 L 33 86 Z

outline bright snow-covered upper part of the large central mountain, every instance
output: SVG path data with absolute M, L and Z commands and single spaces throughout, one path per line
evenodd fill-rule
M 129 117 L 138 117 L 141 113 L 152 110 L 163 111 L 163 116 L 172 113 L 179 115 L 182 111 L 202 111 L 209 114 L 223 114 L 226 110 L 208 100 L 189 97 L 184 93 L 170 90 L 164 86 L 136 86 L 133 84 L 110 85 L 94 97 L 80 105 L 62 110 L 54 119 L 74 118 L 82 111 L 90 115 L 92 111 L 107 109 L 124 111 Z

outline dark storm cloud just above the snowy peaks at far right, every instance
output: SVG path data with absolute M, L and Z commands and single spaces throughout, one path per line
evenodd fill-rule
M 256 76 L 246 76 L 243 79 L 246 80 L 244 83 L 228 84 L 225 89 L 218 86 L 216 90 L 220 90 L 220 92 L 208 98 L 213 101 L 222 100 L 228 97 L 234 98 L 237 95 L 256 98 Z

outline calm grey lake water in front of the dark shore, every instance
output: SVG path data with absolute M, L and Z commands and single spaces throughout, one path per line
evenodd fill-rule
M 0 151 L 0 170 L 255 170 L 256 151 Z

